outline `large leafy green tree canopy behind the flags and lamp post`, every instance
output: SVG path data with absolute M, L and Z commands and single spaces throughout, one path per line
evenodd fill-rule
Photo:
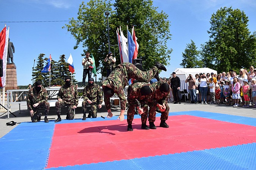
M 130 31 L 134 25 L 140 45 L 138 58 L 143 59 L 143 67 L 147 70 L 155 61 L 168 64 L 167 60 L 170 59 L 172 51 L 166 46 L 167 41 L 171 39 L 168 15 L 163 11 L 159 13 L 156 9 L 152 6 L 151 0 L 116 0 L 114 4 L 108 0 L 90 0 L 87 5 L 82 2 L 77 20 L 70 19 L 64 28 L 67 28 L 77 40 L 74 48 L 82 43 L 85 48 L 82 56 L 85 56 L 85 51 L 92 53 L 97 71 L 104 73 L 103 60 L 108 52 L 107 21 L 104 13 L 109 11 L 110 44 L 117 44 L 116 29 L 120 25 L 124 34 L 126 25 Z M 111 48 L 118 51 L 117 46 Z M 116 59 L 116 63 L 119 64 L 119 57 Z

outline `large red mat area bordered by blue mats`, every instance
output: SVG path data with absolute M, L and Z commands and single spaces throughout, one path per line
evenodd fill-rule
M 169 116 L 169 128 L 142 130 L 141 120 L 56 124 L 47 168 L 167 155 L 256 142 L 256 127 L 196 116 Z

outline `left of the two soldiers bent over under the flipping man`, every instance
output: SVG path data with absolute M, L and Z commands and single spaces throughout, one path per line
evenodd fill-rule
M 127 100 L 129 103 L 129 108 L 127 110 L 127 131 L 133 131 L 132 121 L 135 114 L 135 108 L 138 109 L 138 113 L 141 114 L 141 128 L 149 130 L 146 125 L 148 117 L 148 101 L 151 99 L 152 88 L 150 83 L 137 82 L 129 85 L 127 90 Z M 138 102 L 140 102 L 141 107 L 139 107 Z M 145 116 L 144 116 L 145 114 Z M 146 120 L 144 120 L 146 117 Z

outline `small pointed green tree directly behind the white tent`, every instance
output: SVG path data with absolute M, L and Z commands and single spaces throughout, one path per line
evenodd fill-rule
M 201 60 L 199 60 L 199 51 L 195 45 L 195 42 L 191 40 L 190 44 L 187 44 L 184 53 L 182 53 L 182 63 L 180 64 L 183 68 L 200 68 L 203 66 Z

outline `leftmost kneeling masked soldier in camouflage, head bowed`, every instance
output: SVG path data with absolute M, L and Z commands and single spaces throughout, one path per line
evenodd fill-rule
M 39 108 L 45 108 L 44 110 L 44 122 L 48 123 L 47 115 L 49 114 L 50 105 L 47 102 L 48 94 L 44 87 L 42 87 L 41 81 L 36 81 L 35 87 L 28 90 L 27 106 L 30 111 L 31 121 L 41 121 L 42 113 L 38 113 Z

